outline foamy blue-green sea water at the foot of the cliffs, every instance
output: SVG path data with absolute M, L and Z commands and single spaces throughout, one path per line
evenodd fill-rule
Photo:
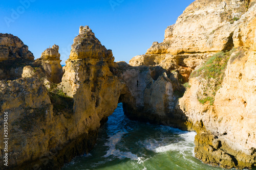
M 123 114 L 122 104 L 99 131 L 88 155 L 76 157 L 62 170 L 223 169 L 194 157 L 195 132 L 140 123 Z

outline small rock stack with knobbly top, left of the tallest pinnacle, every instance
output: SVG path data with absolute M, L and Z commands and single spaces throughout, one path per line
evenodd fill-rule
M 59 46 L 54 44 L 51 48 L 47 48 L 40 58 L 36 59 L 36 64 L 41 65 L 42 69 L 53 83 L 60 83 L 63 75 L 58 51 Z

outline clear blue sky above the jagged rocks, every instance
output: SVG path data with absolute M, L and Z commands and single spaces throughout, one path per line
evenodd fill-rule
M 22 3 L 24 2 L 24 3 Z M 29 3 L 28 3 L 29 2 Z M 35 58 L 59 45 L 61 64 L 69 58 L 79 26 L 88 25 L 115 61 L 145 54 L 193 0 L 1 1 L 0 33 L 18 36 Z

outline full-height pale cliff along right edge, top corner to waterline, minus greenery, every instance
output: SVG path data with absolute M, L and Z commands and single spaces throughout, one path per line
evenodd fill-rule
M 177 112 L 181 109 L 198 133 L 195 156 L 205 163 L 225 168 L 256 166 L 255 29 L 254 6 L 236 26 L 233 40 L 238 50 L 230 54 L 224 80 L 213 100 L 200 102 L 201 94 L 207 96 L 205 87 L 212 90 L 215 84 L 209 87 L 208 80 L 199 76 L 189 80 L 191 88 L 177 104 Z

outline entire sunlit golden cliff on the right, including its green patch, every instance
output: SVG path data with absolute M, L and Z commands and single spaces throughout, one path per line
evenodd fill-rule
M 175 70 L 178 80 L 189 81 L 175 111 L 157 115 L 172 115 L 177 119 L 176 127 L 196 130 L 195 156 L 208 164 L 256 166 L 255 16 L 255 1 L 195 1 L 166 29 L 162 43 L 154 42 L 145 55 L 130 61 L 133 66 L 160 66 L 167 75 Z M 230 52 L 216 54 L 220 51 Z M 215 60 L 219 66 L 214 65 Z M 210 68 L 213 70 L 206 70 Z M 217 77 L 211 74 L 216 69 L 220 69 Z M 206 71 L 208 77 L 203 76 Z M 143 94 L 144 99 L 151 96 L 147 90 Z M 158 102 L 157 97 L 153 99 L 152 103 Z M 145 101 L 143 110 L 155 107 Z M 158 106 L 158 110 L 167 108 Z M 141 115 L 146 117 L 147 113 L 134 113 L 133 118 Z M 161 118 L 148 115 L 152 122 L 162 123 Z

